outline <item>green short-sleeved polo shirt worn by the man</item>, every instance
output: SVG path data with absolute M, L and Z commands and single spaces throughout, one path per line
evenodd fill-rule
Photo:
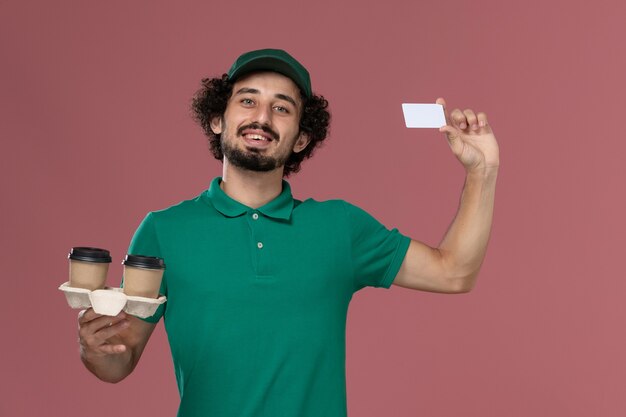
M 352 294 L 389 288 L 410 239 L 341 200 L 287 182 L 252 209 L 221 178 L 149 213 L 129 253 L 162 257 L 180 417 L 345 417 Z

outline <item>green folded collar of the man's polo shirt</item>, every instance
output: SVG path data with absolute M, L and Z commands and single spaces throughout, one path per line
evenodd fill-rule
M 224 190 L 220 187 L 221 182 L 222 177 L 213 178 L 211 186 L 204 192 L 205 200 L 215 207 L 217 211 L 226 217 L 238 217 L 254 210 L 226 195 Z M 291 195 L 291 187 L 285 180 L 283 180 L 283 190 L 281 193 L 269 203 L 256 209 L 256 211 L 265 216 L 283 220 L 289 220 L 292 210 L 293 196 Z

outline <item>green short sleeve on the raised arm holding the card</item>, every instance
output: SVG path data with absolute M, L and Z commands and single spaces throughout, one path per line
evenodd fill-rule
M 387 229 L 364 210 L 345 203 L 349 223 L 355 287 L 389 288 L 411 239 Z

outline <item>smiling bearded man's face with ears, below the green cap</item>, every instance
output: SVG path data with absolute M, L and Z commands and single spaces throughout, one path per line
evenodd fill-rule
M 274 72 L 253 73 L 233 86 L 222 118 L 211 122 L 221 134 L 224 158 L 250 171 L 282 168 L 292 152 L 309 143 L 300 134 L 302 101 L 291 79 Z

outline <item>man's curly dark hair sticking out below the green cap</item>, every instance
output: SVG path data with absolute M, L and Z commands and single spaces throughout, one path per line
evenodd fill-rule
M 211 120 L 215 117 L 224 116 L 234 83 L 228 79 L 227 74 L 224 74 L 220 78 L 204 78 L 201 84 L 202 87 L 192 99 L 192 116 L 208 136 L 209 147 L 213 156 L 222 161 L 224 153 L 220 144 L 220 135 L 211 130 Z M 328 101 L 323 96 L 306 97 L 302 91 L 300 91 L 300 96 L 303 103 L 300 131 L 309 136 L 310 142 L 302 151 L 291 153 L 285 163 L 283 172 L 285 177 L 300 171 L 300 164 L 313 156 L 313 151 L 328 136 L 330 126 L 330 113 L 327 110 Z

